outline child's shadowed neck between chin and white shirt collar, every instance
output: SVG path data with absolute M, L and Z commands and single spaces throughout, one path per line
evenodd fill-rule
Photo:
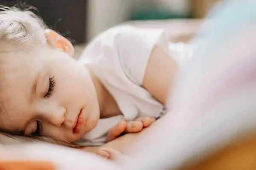
M 122 114 L 115 99 L 102 85 L 102 82 L 99 81 L 98 77 L 96 77 L 92 71 L 88 71 L 96 89 L 100 109 L 100 118 L 103 119 Z

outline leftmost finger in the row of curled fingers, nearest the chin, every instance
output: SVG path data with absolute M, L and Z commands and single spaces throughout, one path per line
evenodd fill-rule
M 115 126 L 113 126 L 108 132 L 107 142 L 118 138 L 125 131 L 126 125 L 126 122 L 124 120 L 121 120 Z

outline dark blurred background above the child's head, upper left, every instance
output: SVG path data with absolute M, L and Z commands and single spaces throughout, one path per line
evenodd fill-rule
M 58 31 L 73 44 L 86 40 L 86 0 L 0 0 L 3 6 L 28 8 L 43 18 L 47 26 Z

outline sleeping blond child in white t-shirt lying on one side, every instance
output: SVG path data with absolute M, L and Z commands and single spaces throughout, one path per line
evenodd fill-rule
M 192 55 L 162 29 L 117 26 L 76 60 L 66 38 L 17 8 L 0 12 L 0 45 L 0 130 L 83 146 L 150 126 Z

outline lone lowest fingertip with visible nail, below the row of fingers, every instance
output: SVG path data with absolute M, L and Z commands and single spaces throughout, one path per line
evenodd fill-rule
M 97 151 L 96 155 L 102 156 L 103 158 L 108 159 L 108 160 L 119 161 L 119 162 L 127 161 L 127 160 L 131 159 L 128 156 L 123 155 L 118 150 L 115 150 L 115 149 L 110 148 L 110 147 L 102 147 L 102 148 L 100 148 Z

